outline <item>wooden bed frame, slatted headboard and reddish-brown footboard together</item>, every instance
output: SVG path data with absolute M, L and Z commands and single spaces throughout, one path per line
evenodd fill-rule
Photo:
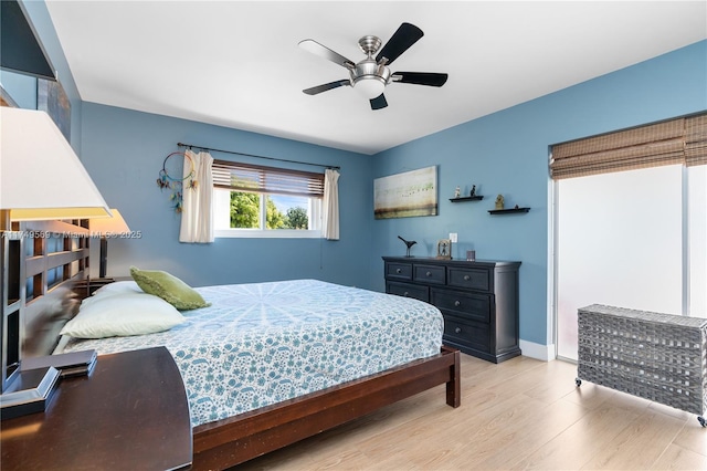
M 21 292 L 15 302 L 21 305 L 20 344 L 23 357 L 49 355 L 53 350 L 59 341 L 59 329 L 75 313 L 81 297 L 87 294 L 77 293 L 71 287 L 84 280 L 88 272 L 85 229 L 68 229 L 64 223 L 30 223 L 31 228 L 25 224 L 15 230 L 41 230 L 45 237 L 49 231 L 56 231 L 57 236 L 71 232 L 76 236 L 72 238 L 76 241 L 64 241 L 63 249 L 54 253 L 43 249 L 45 241 L 41 239 L 24 239 L 23 243 L 34 244 L 33 251 L 20 244 L 10 250 L 8 257 L 8 251 L 3 250 L 2 282 L 18 286 Z M 12 263 L 19 264 L 19 268 L 13 270 L 9 266 Z M 61 280 L 49 285 L 49 273 L 57 266 L 62 268 Z M 19 280 L 6 280 L 8 276 Z M 27 283 L 28 279 L 32 282 Z M 31 295 L 25 293 L 29 285 L 33 291 Z M 30 297 L 31 301 L 25 302 Z M 3 310 L 6 307 L 3 302 Z M 192 429 L 192 469 L 224 469 L 245 462 L 442 384 L 446 384 L 446 404 L 458 407 L 460 353 L 456 349 L 442 347 L 440 354 L 429 358 L 198 426 Z

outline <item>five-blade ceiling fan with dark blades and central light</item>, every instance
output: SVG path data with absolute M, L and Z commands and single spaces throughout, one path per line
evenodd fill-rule
M 411 83 L 415 85 L 442 86 L 446 82 L 447 74 L 432 72 L 390 72 L 388 67 L 392 62 L 405 52 L 412 44 L 423 36 L 420 28 L 410 23 L 402 23 L 393 33 L 392 38 L 378 52 L 381 40 L 373 35 L 367 35 L 358 41 L 361 51 L 367 55 L 362 61 L 355 63 L 331 51 L 329 48 L 318 42 L 306 39 L 299 42 L 299 46 L 313 54 L 320 55 L 335 64 L 341 65 L 349 71 L 349 78 L 325 83 L 303 90 L 307 95 L 316 95 L 339 86 L 352 86 L 359 91 L 371 103 L 371 109 L 381 109 L 388 106 L 383 91 L 392 82 Z M 373 54 L 378 52 L 376 59 Z

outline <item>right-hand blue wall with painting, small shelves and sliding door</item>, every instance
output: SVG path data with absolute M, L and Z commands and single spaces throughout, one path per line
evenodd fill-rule
M 440 216 L 374 221 L 372 273 L 382 274 L 380 254 L 404 253 L 398 234 L 419 242 L 413 255 L 426 257 L 434 254 L 437 239 L 457 232 L 454 257 L 474 249 L 477 259 L 523 262 L 520 337 L 549 345 L 549 146 L 705 109 L 707 41 L 701 41 L 381 153 L 373 159 L 373 178 L 439 166 Z M 467 192 L 473 184 L 483 201 L 449 201 L 457 185 Z M 490 216 L 498 193 L 506 207 L 530 211 Z M 383 287 L 382 275 L 374 287 Z

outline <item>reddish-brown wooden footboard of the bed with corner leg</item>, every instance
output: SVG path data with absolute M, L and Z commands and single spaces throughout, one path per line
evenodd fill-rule
M 229 468 L 446 384 L 458 407 L 460 353 L 442 352 L 397 368 L 291 399 L 193 430 L 194 470 Z

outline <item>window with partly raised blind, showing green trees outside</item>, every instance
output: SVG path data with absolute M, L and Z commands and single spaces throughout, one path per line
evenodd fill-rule
M 324 174 L 213 161 L 215 237 L 319 238 Z

